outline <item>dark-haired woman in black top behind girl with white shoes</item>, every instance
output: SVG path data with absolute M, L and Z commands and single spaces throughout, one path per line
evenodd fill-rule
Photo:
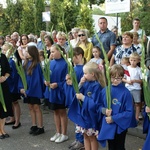
M 44 42 L 45 42 L 45 46 L 46 46 L 46 52 L 48 54 L 47 58 L 49 58 L 49 56 L 50 56 L 50 48 L 54 44 L 54 42 L 53 42 L 53 39 L 51 38 L 50 35 L 45 35 L 44 36 Z

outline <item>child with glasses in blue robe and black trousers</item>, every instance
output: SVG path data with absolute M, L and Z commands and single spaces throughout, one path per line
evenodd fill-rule
M 109 150 L 125 150 L 125 137 L 129 127 L 135 127 L 136 121 L 132 96 L 122 83 L 124 69 L 121 65 L 113 65 L 110 69 L 111 77 L 111 109 L 107 109 L 106 89 L 101 92 L 103 101 L 101 112 L 104 114 L 98 140 Z

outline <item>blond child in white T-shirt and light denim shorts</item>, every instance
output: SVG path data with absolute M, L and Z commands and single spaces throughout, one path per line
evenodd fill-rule
M 126 88 L 131 92 L 134 103 L 136 120 L 139 121 L 140 104 L 141 104 L 141 84 L 142 72 L 141 68 L 137 65 L 140 61 L 140 56 L 137 53 L 132 53 L 129 57 L 130 65 L 128 71 L 130 76 L 127 76 L 123 81 L 126 83 Z

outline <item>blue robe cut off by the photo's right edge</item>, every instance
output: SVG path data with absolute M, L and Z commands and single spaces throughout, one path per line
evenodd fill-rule
M 142 150 L 148 150 L 150 148 L 150 119 L 146 112 L 144 112 L 143 115 L 143 133 L 147 133 L 147 135 Z

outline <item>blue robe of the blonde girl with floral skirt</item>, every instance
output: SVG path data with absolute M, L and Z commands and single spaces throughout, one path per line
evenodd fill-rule
M 101 85 L 97 81 L 85 82 L 80 89 L 80 92 L 85 96 L 82 105 L 74 96 L 70 106 L 68 117 L 77 125 L 89 129 L 99 129 L 100 116 L 97 112 L 99 104 L 99 93 L 102 90 Z

